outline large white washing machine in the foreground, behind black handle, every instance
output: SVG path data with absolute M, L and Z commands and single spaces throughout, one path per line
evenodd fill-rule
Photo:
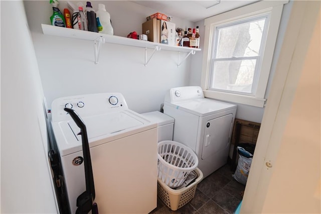
M 80 129 L 64 108 L 86 125 L 100 213 L 148 213 L 157 201 L 157 123 L 128 109 L 120 93 L 62 97 L 52 103 L 71 213 L 86 190 Z

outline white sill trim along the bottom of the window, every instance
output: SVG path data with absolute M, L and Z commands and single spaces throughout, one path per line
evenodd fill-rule
M 203 90 L 205 97 L 213 98 L 213 99 L 220 99 L 229 102 L 241 103 L 246 105 L 252 105 L 256 107 L 263 108 L 266 99 L 254 97 L 254 96 L 246 96 L 240 94 L 231 94 L 213 90 Z

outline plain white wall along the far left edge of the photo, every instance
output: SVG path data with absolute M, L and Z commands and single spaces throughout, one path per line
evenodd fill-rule
M 1 1 L 1 213 L 57 213 L 42 99 L 23 2 Z

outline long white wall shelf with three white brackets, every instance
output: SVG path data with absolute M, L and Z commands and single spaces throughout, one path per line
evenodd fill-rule
M 103 43 L 112 43 L 112 44 L 119 44 L 119 45 L 126 45 L 126 46 L 134 46 L 145 48 L 145 63 L 146 66 L 155 53 L 155 51 L 165 50 L 165 51 L 176 51 L 179 52 L 179 60 L 178 66 L 180 66 L 184 60 L 187 59 L 189 55 L 194 55 L 196 51 L 200 51 L 199 48 L 189 48 L 189 47 L 180 47 L 180 46 L 170 46 L 161 43 L 154 43 L 149 41 L 142 41 L 137 39 L 130 39 L 126 37 L 120 36 L 111 36 L 107 34 L 95 33 L 90 31 L 81 31 L 77 29 L 70 29 L 70 28 L 62 28 L 52 25 L 45 25 L 41 24 L 43 33 L 45 35 L 51 36 L 60 36 L 60 37 L 68 37 L 68 38 L 75 38 L 75 39 L 82 39 L 82 40 L 91 40 L 94 42 L 94 53 L 95 53 L 95 64 L 98 63 L 100 48 Z M 154 49 L 149 59 L 147 59 L 147 48 Z M 180 54 L 181 52 L 188 53 L 187 56 L 180 62 Z

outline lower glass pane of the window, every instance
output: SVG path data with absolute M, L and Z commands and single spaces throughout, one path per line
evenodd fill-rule
M 256 59 L 215 61 L 212 89 L 252 92 Z

